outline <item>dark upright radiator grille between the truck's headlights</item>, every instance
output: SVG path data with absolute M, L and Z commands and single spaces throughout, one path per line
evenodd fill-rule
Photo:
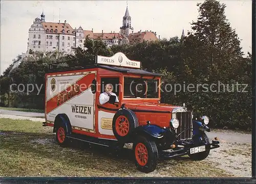
M 192 128 L 191 112 L 176 113 L 176 118 L 180 122 L 180 126 L 176 129 L 177 135 L 179 135 L 183 130 L 187 128 Z M 189 138 L 192 138 L 192 129 L 185 130 L 178 137 L 178 139 L 180 140 L 189 139 Z

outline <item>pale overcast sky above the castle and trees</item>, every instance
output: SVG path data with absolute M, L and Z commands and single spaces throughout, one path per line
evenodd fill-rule
M 191 31 L 197 21 L 197 3 L 203 1 L 127 1 L 134 32 L 154 31 L 157 37 L 170 38 Z M 220 1 L 225 15 L 236 30 L 245 54 L 251 52 L 251 1 Z M 119 32 L 126 1 L 1 1 L 0 74 L 22 52 L 27 51 L 28 31 L 44 10 L 47 22 L 67 20 L 73 29 L 82 27 L 94 33 Z

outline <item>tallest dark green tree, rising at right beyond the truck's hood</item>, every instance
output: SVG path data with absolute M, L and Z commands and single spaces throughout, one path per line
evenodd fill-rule
M 215 0 L 206 0 L 197 6 L 198 20 L 191 23 L 192 32 L 184 38 L 181 47 L 183 65 L 179 70 L 180 79 L 194 85 L 208 84 L 208 86 L 218 82 L 226 86 L 236 85 L 237 82 L 243 83 L 247 78 L 243 73 L 245 59 L 238 35 L 226 19 L 226 6 Z M 238 107 L 245 103 L 242 99 L 247 99 L 248 93 L 214 92 L 219 90 L 217 87 L 204 93 L 202 87 L 199 89 L 200 93 L 186 92 L 180 97 L 195 104 L 198 113 L 207 113 L 219 125 L 243 126 L 240 123 L 242 116 L 237 115 L 250 109 L 249 103 L 246 102 L 246 107 Z M 247 115 L 246 117 L 249 117 L 248 113 Z M 250 123 L 250 119 L 244 120 L 247 125 Z

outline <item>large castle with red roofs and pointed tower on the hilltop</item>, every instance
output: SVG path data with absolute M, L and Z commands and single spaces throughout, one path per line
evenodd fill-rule
M 83 48 L 83 43 L 86 37 L 90 39 L 102 40 L 107 46 L 119 44 L 134 44 L 143 41 L 155 41 L 157 38 L 156 32 L 141 30 L 134 33 L 132 27 L 132 17 L 129 14 L 128 7 L 126 7 L 125 14 L 122 18 L 122 26 L 120 32 L 116 33 L 94 33 L 92 30 L 83 30 L 80 26 L 78 29 L 73 29 L 65 20 L 64 23 L 46 22 L 44 12 L 41 18 L 35 18 L 31 28 L 29 29 L 28 51 L 62 51 L 73 53 L 76 47 Z

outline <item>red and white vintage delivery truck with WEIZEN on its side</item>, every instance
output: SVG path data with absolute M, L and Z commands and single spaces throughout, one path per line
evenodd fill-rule
M 194 120 L 186 107 L 160 103 L 161 74 L 142 70 L 121 52 L 95 60 L 87 67 L 51 65 L 45 76 L 43 125 L 53 127 L 60 145 L 71 139 L 114 148 L 133 143 L 136 167 L 145 173 L 156 169 L 159 157 L 203 160 L 219 147 L 205 134 L 207 116 Z M 107 102 L 100 102 L 101 93 Z

